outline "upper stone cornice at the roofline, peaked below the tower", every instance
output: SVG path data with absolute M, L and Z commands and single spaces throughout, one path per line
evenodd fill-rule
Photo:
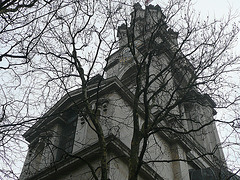
M 103 80 L 100 85 L 95 83 L 88 86 L 89 101 L 101 98 L 101 96 L 111 92 L 117 92 L 122 99 L 128 102 L 130 106 L 133 105 L 134 95 L 130 90 L 124 87 L 116 76 Z M 34 134 L 36 135 L 36 133 L 38 133 L 37 130 L 46 127 L 58 119 L 62 119 L 61 112 L 74 106 L 74 103 L 79 106 L 83 105 L 81 88 L 64 95 L 49 111 L 40 117 L 39 120 L 23 134 L 23 137 L 29 141 L 30 136 L 34 136 Z M 143 107 L 141 105 L 139 106 L 139 111 L 143 114 Z

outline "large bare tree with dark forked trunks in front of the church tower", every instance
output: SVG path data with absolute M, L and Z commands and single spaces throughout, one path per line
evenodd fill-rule
M 11 159 L 4 157 L 6 153 L 16 144 L 21 145 L 19 134 L 37 121 L 27 132 L 35 133 L 32 136 L 39 141 L 27 139 L 32 142 L 29 149 L 35 151 L 28 153 L 25 168 L 29 171 L 44 168 L 39 167 L 43 154 L 46 157 L 41 161 L 49 163 L 51 159 L 53 167 L 64 157 L 80 159 L 88 166 L 92 179 L 102 180 L 109 178 L 109 163 L 122 157 L 128 162 L 129 180 L 138 179 L 146 167 L 157 172 L 159 163 L 178 166 L 179 162 L 211 156 L 219 169 L 226 166 L 221 145 L 207 138 L 216 131 L 215 122 L 239 131 L 237 114 L 231 121 L 213 119 L 214 108 L 237 107 L 239 103 L 239 96 L 229 97 L 220 89 L 226 87 L 231 92 L 238 87 L 230 86 L 224 78 L 239 70 L 239 57 L 230 52 L 239 31 L 232 24 L 233 16 L 202 22 L 191 11 L 191 2 L 182 0 L 170 1 L 162 9 L 151 5 L 142 9 L 140 4 L 127 2 L 12 2 L 3 1 L 0 11 L 5 19 L 1 42 L 8 44 L 0 54 L 0 68 L 6 74 L 2 78 L 6 83 L 1 85 L 1 157 L 6 164 Z M 105 76 L 117 76 L 118 86 L 125 91 L 122 93 L 129 96 L 127 107 L 131 111 L 122 118 L 104 114 L 103 91 L 111 82 Z M 62 97 L 70 103 L 61 109 L 60 100 L 53 106 Z M 121 107 L 118 98 L 109 103 L 116 104 L 116 109 Z M 69 129 L 79 119 L 90 127 L 98 142 L 98 166 L 72 153 L 73 144 L 80 146 L 81 142 L 75 139 L 70 143 L 70 130 L 70 134 L 68 130 L 64 134 L 62 126 L 62 130 L 45 129 L 44 123 L 54 119 L 68 119 Z M 128 154 L 109 158 L 110 137 L 122 140 L 121 131 L 128 128 Z M 66 139 L 60 140 L 60 136 Z M 161 152 L 165 146 L 159 136 L 172 142 L 194 139 L 192 146 L 201 150 L 196 157 L 172 155 L 174 158 L 168 159 L 165 151 Z M 63 148 L 68 140 L 69 145 Z M 81 145 L 88 146 L 89 142 Z M 191 143 L 184 146 L 191 148 Z M 174 145 L 171 148 L 173 152 L 178 150 Z M 154 156 L 156 149 L 158 154 Z

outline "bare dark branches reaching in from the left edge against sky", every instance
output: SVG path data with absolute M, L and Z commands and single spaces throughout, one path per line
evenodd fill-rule
M 57 9 L 50 3 L 51 1 L 36 0 L 0 1 L 0 146 L 3 162 L 1 176 L 4 179 L 16 179 L 19 176 L 15 171 L 20 168 L 21 163 L 16 162 L 16 159 L 21 159 L 26 151 L 21 134 L 35 121 L 36 116 L 29 113 L 29 108 L 32 109 L 36 104 L 30 103 L 35 83 L 29 78 L 31 70 L 28 66 L 32 58 L 30 52 L 38 43 L 48 19 L 51 19 Z

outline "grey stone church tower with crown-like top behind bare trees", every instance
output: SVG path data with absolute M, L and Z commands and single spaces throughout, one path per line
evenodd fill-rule
M 93 106 L 98 104 L 102 118 L 108 158 L 111 159 L 111 180 L 128 177 L 128 162 L 124 157 L 129 155 L 131 146 L 133 96 L 139 83 L 136 77 L 140 70 L 136 62 L 149 60 L 149 56 L 152 58 L 148 68 L 146 63 L 142 67 L 143 77 L 139 78 L 146 81 L 144 74 L 149 73 L 149 81 L 157 79 L 150 85 L 149 95 L 154 95 L 160 84 L 168 82 L 157 98 L 151 100 L 149 110 L 153 118 L 159 111 L 165 111 L 161 107 L 167 106 L 169 98 L 177 99 L 183 93 L 178 91 L 171 96 L 176 87 L 184 89 L 194 76 L 193 66 L 177 52 L 178 33 L 166 25 L 159 6 L 142 9 L 140 4 L 135 4 L 131 16 L 130 25 L 123 24 L 118 28 L 119 50 L 106 60 L 107 78 L 95 76 L 88 83 L 91 102 Z M 176 63 L 172 63 L 174 59 L 177 59 Z M 169 70 L 164 71 L 167 68 Z M 163 73 L 158 77 L 160 71 Z M 83 112 L 79 113 L 79 109 L 84 109 L 81 97 L 79 89 L 65 95 L 24 134 L 29 150 L 20 179 L 89 180 L 92 178 L 89 163 L 94 171 L 99 171 L 97 135 Z M 215 103 L 207 94 L 200 94 L 194 88 L 188 91 L 186 99 L 188 101 L 172 108 L 165 120 L 156 126 L 167 127 L 166 130 L 149 138 L 144 161 L 156 162 L 142 165 L 139 180 L 216 180 L 219 174 L 224 177 L 221 169 L 226 164 L 213 121 Z M 142 121 L 143 109 L 140 103 Z M 208 125 L 201 128 L 202 124 Z M 191 131 L 198 128 L 198 131 Z M 176 159 L 180 161 L 171 161 Z

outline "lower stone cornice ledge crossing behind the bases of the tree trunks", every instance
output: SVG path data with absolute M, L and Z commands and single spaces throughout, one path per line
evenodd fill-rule
M 118 156 L 119 159 L 127 159 L 130 155 L 130 149 L 118 138 L 113 135 L 106 137 L 107 150 Z M 59 178 L 62 174 L 73 171 L 84 164 L 84 161 L 91 162 L 96 160 L 99 154 L 98 143 L 88 145 L 86 148 L 79 150 L 74 154 L 70 154 L 64 160 L 54 163 L 51 167 L 47 167 L 37 174 L 27 178 L 26 180 L 52 180 Z M 83 161 L 84 159 L 84 161 Z M 149 165 L 143 164 L 140 174 L 147 175 L 150 180 L 163 180 Z

